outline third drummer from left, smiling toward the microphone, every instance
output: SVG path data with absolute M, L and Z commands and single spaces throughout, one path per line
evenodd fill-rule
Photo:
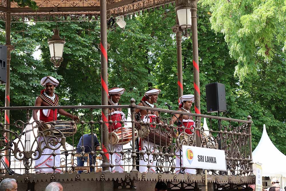
M 144 106 L 144 107 L 150 107 L 150 108 L 156 108 L 156 105 L 154 105 L 154 103 L 157 103 L 158 100 L 158 95 L 160 94 L 161 90 L 159 89 L 149 89 L 147 92 L 145 92 L 144 97 L 142 98 L 141 102 L 138 104 L 139 106 Z M 150 123 L 153 122 L 160 122 L 159 119 L 159 113 L 157 111 L 152 111 L 151 109 L 148 110 L 144 110 L 144 109 L 136 109 L 135 113 L 139 115 L 141 115 L 141 119 L 144 123 L 146 123 L 147 121 Z M 155 126 L 150 125 L 151 128 L 155 128 Z M 143 139 L 139 139 L 139 150 L 142 150 L 144 153 L 147 153 L 148 151 L 150 151 L 151 153 L 154 153 L 154 151 L 158 151 L 156 149 L 156 145 L 154 143 L 151 143 L 149 141 L 145 141 Z M 152 167 L 150 169 L 148 169 L 147 165 L 151 165 Z M 147 155 L 144 154 L 144 160 L 140 160 L 139 162 L 139 171 L 140 172 L 152 172 L 155 173 L 156 168 L 154 166 L 156 166 L 156 162 L 154 162 L 153 160 L 153 155 Z

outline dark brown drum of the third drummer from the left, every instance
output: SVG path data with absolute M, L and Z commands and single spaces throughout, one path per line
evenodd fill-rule
M 172 144 L 172 137 L 167 132 L 161 132 L 159 129 L 150 130 L 146 124 L 142 124 L 141 127 L 138 129 L 138 135 L 140 138 L 144 139 L 145 141 L 149 141 L 156 145 L 160 146 L 170 146 Z

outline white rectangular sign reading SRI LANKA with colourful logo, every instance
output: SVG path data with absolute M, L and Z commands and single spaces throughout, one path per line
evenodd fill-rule
M 182 145 L 183 167 L 227 170 L 225 151 Z

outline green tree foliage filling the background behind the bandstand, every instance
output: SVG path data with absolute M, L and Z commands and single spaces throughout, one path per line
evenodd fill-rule
M 275 30 L 275 38 L 268 36 L 269 40 L 261 42 L 258 34 L 254 35 L 257 38 L 250 38 L 256 29 L 249 29 L 251 34 L 244 34 L 244 37 L 237 36 L 243 24 L 233 23 L 229 28 L 225 28 L 224 24 L 227 25 L 228 19 L 229 23 L 239 23 L 238 20 L 242 23 L 241 19 L 245 15 L 239 12 L 242 8 L 234 8 L 233 12 L 229 10 L 232 14 L 225 16 L 219 15 L 217 11 L 219 3 L 221 9 L 229 4 L 223 1 L 200 2 L 202 3 L 198 4 L 198 44 L 201 113 L 206 114 L 205 85 L 211 82 L 223 83 L 226 86 L 228 105 L 228 111 L 224 116 L 246 119 L 251 115 L 253 118 L 253 149 L 261 137 L 262 125 L 265 123 L 271 140 L 286 153 L 285 53 L 284 42 L 281 43 L 283 30 L 280 28 L 283 25 L 279 25 L 277 18 L 270 19 L 274 26 L 268 30 Z M 235 2 L 231 1 L 232 5 Z M 251 5 L 248 9 L 253 11 L 256 9 L 250 7 L 258 7 L 261 4 L 258 0 L 251 2 L 256 2 L 249 3 Z M 246 3 L 243 3 L 244 1 L 240 6 L 245 7 Z M 227 8 L 229 7 L 224 9 Z M 164 102 L 170 103 L 174 109 L 178 107 L 176 37 L 171 29 L 175 25 L 175 15 L 172 10 L 174 7 L 170 5 L 165 9 L 159 8 L 126 16 L 127 25 L 124 30 L 117 27 L 114 31 L 108 32 L 108 43 L 111 45 L 108 50 L 108 86 L 126 88 L 121 104 L 129 104 L 131 98 L 139 103 L 144 92 L 149 87 L 154 87 L 162 90 L 158 107 L 166 108 Z M 164 11 L 169 12 L 164 14 Z M 252 15 L 250 10 L 247 14 Z M 243 22 L 245 20 L 246 18 Z M 219 24 L 218 21 L 225 22 Z M 249 19 L 257 28 L 260 21 L 263 23 L 258 19 L 255 24 L 253 19 Z M 61 105 L 101 104 L 99 23 L 66 21 L 57 25 L 60 36 L 65 36 L 66 40 L 64 59 L 59 68 L 54 68 L 50 62 L 47 45 L 48 39 L 53 35 L 55 23 L 27 23 L 27 31 L 12 34 L 15 50 L 11 53 L 11 106 L 33 105 L 42 89 L 40 79 L 46 75 L 54 76 L 60 81 L 56 92 L 61 98 Z M 216 29 L 219 26 L 221 29 Z M 248 26 L 251 24 L 248 23 Z M 4 25 L 1 27 L 5 28 Z M 22 23 L 14 23 L 12 30 L 20 31 L 22 27 Z M 264 32 L 270 33 L 266 30 Z M 263 33 L 263 36 L 267 35 Z M 1 37 L 1 41 L 4 42 L 4 37 Z M 263 48 L 262 41 L 271 47 L 271 54 L 260 54 Z M 234 44 L 245 48 L 232 48 Z M 33 58 L 36 49 L 41 51 L 39 60 Z M 193 94 L 190 37 L 182 40 L 182 55 L 184 94 Z M 248 62 L 242 62 L 241 58 Z M 243 68 L 247 68 L 247 72 L 243 73 Z M 2 97 L 4 89 L 5 87 L 1 86 Z M 1 104 L 4 105 L 4 100 L 1 100 Z M 90 111 L 82 110 L 78 113 Z M 11 113 L 11 121 L 21 117 L 24 118 L 25 115 L 19 111 Z M 98 130 L 98 127 L 95 130 Z M 85 127 L 84 132 L 89 133 L 90 129 Z M 77 136 L 80 136 L 79 134 Z

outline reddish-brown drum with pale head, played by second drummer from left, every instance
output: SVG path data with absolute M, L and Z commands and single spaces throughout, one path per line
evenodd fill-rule
M 135 139 L 138 137 L 138 131 L 135 129 Z M 132 128 L 118 128 L 111 132 L 111 135 L 108 136 L 109 143 L 112 145 L 123 144 L 126 145 L 132 140 Z

